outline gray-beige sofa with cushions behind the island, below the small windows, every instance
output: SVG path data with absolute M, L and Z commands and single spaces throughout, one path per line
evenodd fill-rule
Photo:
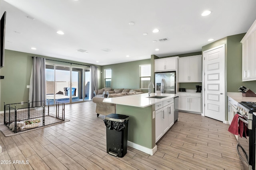
M 107 98 L 114 98 L 119 96 L 134 95 L 143 93 L 141 89 L 124 89 L 116 88 L 111 91 L 106 91 Z

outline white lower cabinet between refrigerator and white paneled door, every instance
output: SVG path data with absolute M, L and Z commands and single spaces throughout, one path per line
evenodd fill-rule
M 201 113 L 201 93 L 177 92 L 177 94 L 179 95 L 179 110 Z

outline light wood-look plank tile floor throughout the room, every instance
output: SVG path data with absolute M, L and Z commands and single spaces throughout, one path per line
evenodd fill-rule
M 179 113 L 153 156 L 128 147 L 123 158 L 112 157 L 104 116 L 97 117 L 95 107 L 91 101 L 66 104 L 68 122 L 12 137 L 0 133 L 0 169 L 242 170 L 229 125 L 192 113 Z

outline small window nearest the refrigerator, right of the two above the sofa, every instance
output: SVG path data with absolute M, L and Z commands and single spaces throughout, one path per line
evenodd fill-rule
M 140 88 L 148 88 L 151 81 L 151 65 L 140 65 Z

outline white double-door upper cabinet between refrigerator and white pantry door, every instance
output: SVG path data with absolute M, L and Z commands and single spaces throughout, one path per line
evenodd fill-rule
M 178 82 L 202 82 L 202 55 L 179 58 Z

